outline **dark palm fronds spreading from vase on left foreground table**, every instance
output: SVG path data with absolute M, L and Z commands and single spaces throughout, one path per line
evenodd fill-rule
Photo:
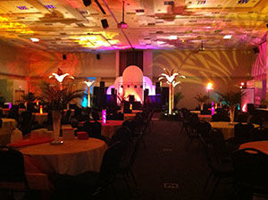
M 41 85 L 42 95 L 39 99 L 51 110 L 63 110 L 64 107 L 76 98 L 81 98 L 83 90 L 73 90 L 71 84 L 63 85 L 62 89 L 59 83 L 50 85 L 43 82 Z

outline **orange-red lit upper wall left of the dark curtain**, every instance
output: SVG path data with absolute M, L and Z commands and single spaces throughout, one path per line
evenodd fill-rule
M 38 52 L 30 56 L 30 77 L 48 77 L 60 68 L 74 77 L 115 78 L 115 52 L 101 52 L 100 59 L 92 53 L 63 54 Z

